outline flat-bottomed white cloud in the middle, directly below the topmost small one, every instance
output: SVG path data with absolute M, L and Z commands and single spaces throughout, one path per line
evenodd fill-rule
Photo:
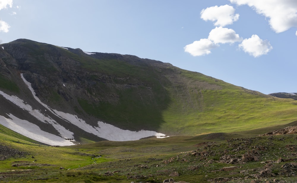
M 242 41 L 242 38 L 233 29 L 216 27 L 210 31 L 208 39 L 217 43 L 235 43 Z

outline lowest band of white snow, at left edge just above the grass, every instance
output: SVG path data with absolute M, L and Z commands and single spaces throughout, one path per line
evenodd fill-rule
M 42 142 L 48 145 L 69 146 L 75 145 L 70 140 L 42 131 L 37 125 L 29 121 L 22 120 L 12 114 L 7 114 L 11 119 L 0 115 L 1 125 L 12 129 L 13 131 L 22 134 L 30 139 Z

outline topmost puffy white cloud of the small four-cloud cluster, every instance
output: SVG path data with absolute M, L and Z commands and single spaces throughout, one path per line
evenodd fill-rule
M 233 24 L 234 21 L 237 21 L 239 18 L 239 14 L 235 14 L 235 9 L 226 4 L 222 6 L 213 6 L 213 7 L 208 7 L 206 9 L 202 9 L 200 14 L 201 14 L 201 19 L 204 21 L 210 20 L 215 22 L 215 26 L 225 26 L 225 25 L 230 25 Z

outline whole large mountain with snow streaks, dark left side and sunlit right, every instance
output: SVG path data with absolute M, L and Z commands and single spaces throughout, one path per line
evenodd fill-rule
M 240 132 L 297 120 L 293 99 L 169 63 L 28 39 L 1 47 L 0 124 L 44 144 Z

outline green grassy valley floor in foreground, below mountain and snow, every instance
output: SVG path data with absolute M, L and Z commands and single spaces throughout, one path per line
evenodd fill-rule
M 260 182 L 273 179 L 295 181 L 282 168 L 286 162 L 276 161 L 284 158 L 296 162 L 296 134 L 252 138 L 232 138 L 236 134 L 223 136 L 226 139 L 207 139 L 209 135 L 201 135 L 50 147 L 0 134 L 1 145 L 29 153 L 27 157 L 1 161 L 0 174 L 5 177 L 0 179 L 4 182 L 163 182 L 171 177 L 176 181 L 208 182 L 225 177 L 231 182 L 251 182 L 255 179 L 252 174 L 259 174 L 267 164 L 263 162 L 273 160 L 275 177 L 263 177 Z M 222 161 L 222 157 L 228 156 L 240 159 L 254 149 L 260 152 L 258 161 L 235 164 Z M 195 152 L 197 155 L 193 155 Z M 207 154 L 200 155 L 200 152 Z M 213 162 L 209 163 L 209 160 Z M 228 166 L 240 167 L 221 171 Z M 169 176 L 173 172 L 178 172 L 179 176 Z

